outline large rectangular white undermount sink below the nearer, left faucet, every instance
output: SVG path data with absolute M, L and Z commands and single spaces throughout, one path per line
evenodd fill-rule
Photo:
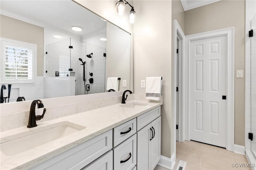
M 85 127 L 70 123 L 68 121 L 55 123 L 45 127 L 36 127 L 31 132 L 22 132 L 15 134 L 17 138 L 12 140 L 4 140 L 10 136 L 1 138 L 0 149 L 1 152 L 6 156 L 12 156 L 30 150 L 37 146 L 46 144 L 53 140 L 62 138 L 74 132 L 84 129 Z

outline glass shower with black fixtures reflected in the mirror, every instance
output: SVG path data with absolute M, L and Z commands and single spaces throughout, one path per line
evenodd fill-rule
M 52 77 L 52 86 L 61 83 L 57 92 L 52 91 L 50 93 L 59 93 L 55 97 L 60 97 L 68 95 L 61 95 L 61 93 L 69 90 L 73 91 L 70 92 L 70 95 L 105 92 L 106 58 L 103 56 L 105 51 L 104 47 L 74 38 L 67 38 L 46 45 L 46 77 Z M 86 57 L 90 53 L 93 53 L 92 57 Z M 84 65 L 81 60 L 83 63 L 85 62 Z M 89 82 L 89 79 L 94 79 L 93 83 Z M 69 85 L 62 89 L 62 86 L 66 84 Z M 87 87 L 90 86 L 90 91 L 86 91 L 86 85 Z

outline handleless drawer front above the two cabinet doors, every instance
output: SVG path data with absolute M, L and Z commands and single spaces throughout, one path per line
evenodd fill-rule
M 148 111 L 144 113 L 143 115 L 140 115 L 137 117 L 137 131 L 139 131 L 141 128 L 148 125 L 150 122 L 154 121 L 156 118 L 158 118 L 161 115 L 161 106 L 152 109 L 151 111 Z

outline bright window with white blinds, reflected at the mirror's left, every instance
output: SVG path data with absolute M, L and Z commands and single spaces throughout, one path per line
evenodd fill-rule
M 17 41 L 2 42 L 2 82 L 34 83 L 36 45 Z

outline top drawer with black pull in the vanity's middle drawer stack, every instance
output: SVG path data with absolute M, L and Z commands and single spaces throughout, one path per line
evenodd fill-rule
M 113 146 L 116 147 L 124 140 L 136 133 L 136 118 L 114 128 Z

